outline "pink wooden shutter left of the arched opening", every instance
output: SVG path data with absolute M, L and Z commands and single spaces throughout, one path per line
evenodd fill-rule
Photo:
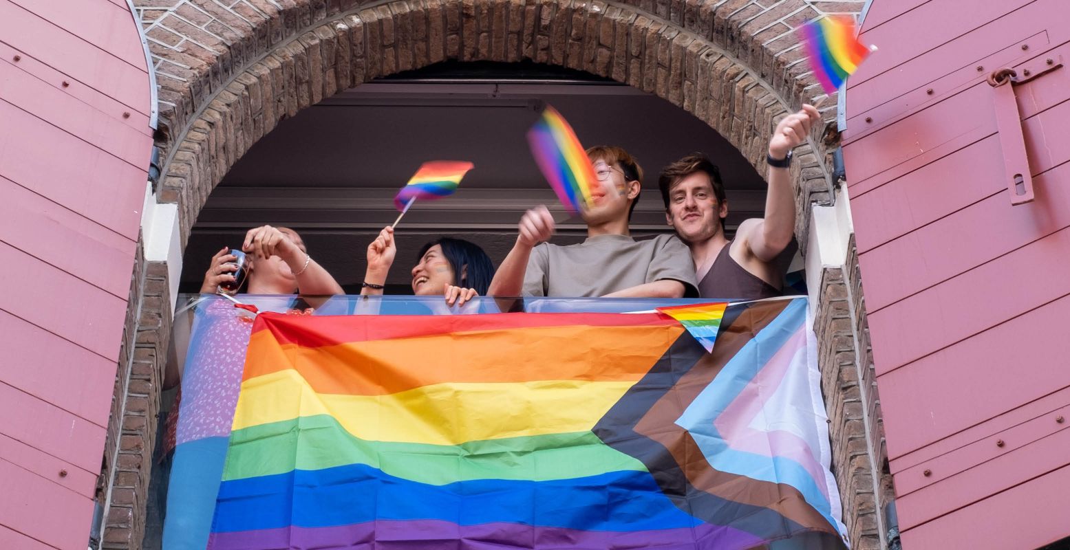
M 152 132 L 124 0 L 0 0 L 0 548 L 85 549 Z

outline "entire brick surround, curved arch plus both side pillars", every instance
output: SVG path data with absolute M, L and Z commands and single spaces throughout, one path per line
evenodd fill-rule
M 446 59 L 530 59 L 587 71 L 649 91 L 719 131 L 760 173 L 764 172 L 761 165 L 773 121 L 785 106 L 797 106 L 820 94 L 812 75 L 800 63 L 793 27 L 822 10 L 853 13 L 866 3 L 133 2 L 150 41 L 158 82 L 157 146 L 163 150 L 164 163 L 156 198 L 178 203 L 182 249 L 208 195 L 242 154 L 280 120 L 378 76 Z M 826 108 L 834 103 L 827 102 Z M 830 119 L 835 109 L 826 114 Z M 804 236 L 810 219 L 809 203 L 831 199 L 825 168 L 826 148 L 830 146 L 821 139 L 825 135 L 825 128 L 815 128 L 810 143 L 796 151 L 796 232 L 802 246 L 807 243 Z M 835 146 L 835 133 L 830 137 L 827 142 Z M 180 257 L 182 250 L 170 248 L 174 253 L 171 258 Z M 834 473 L 844 503 L 844 520 L 854 548 L 877 548 L 883 531 L 875 519 L 880 513 L 872 479 L 880 472 L 859 460 L 859 453 L 867 453 L 859 450 L 865 446 L 859 443 L 867 442 L 868 437 L 859 406 L 866 402 L 859 401 L 859 380 L 865 385 L 861 372 L 872 361 L 867 331 L 859 324 L 865 323 L 865 312 L 861 289 L 855 288 L 857 263 L 852 262 L 849 259 L 843 269 L 824 270 L 815 332 L 822 342 L 823 393 L 832 421 Z M 853 271 L 847 269 L 850 265 L 854 265 Z M 163 351 L 142 348 L 141 342 L 153 350 L 166 350 L 171 322 L 168 268 L 158 256 L 151 260 L 139 256 L 135 264 L 136 273 L 141 275 L 136 277 L 139 286 L 132 287 L 126 327 L 136 335 L 138 347 L 124 349 L 123 353 L 132 357 L 128 368 L 137 380 L 132 378 L 128 387 L 117 382 L 109 444 L 120 445 L 121 452 L 118 465 L 110 465 L 103 477 L 105 485 L 116 490 L 105 514 L 105 548 L 109 549 L 140 548 L 148 523 L 149 473 L 140 464 L 146 449 L 153 448 L 154 423 L 146 418 L 152 418 L 159 408 L 158 384 L 165 360 Z M 844 305 L 849 301 L 855 305 Z M 139 305 L 135 307 L 135 303 Z M 855 341 L 853 335 L 861 336 Z M 131 338 L 135 341 L 134 336 Z M 846 351 L 845 346 L 855 351 Z M 871 421 L 877 417 L 873 414 Z

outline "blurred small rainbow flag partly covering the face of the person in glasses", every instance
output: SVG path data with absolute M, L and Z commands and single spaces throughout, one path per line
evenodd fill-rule
M 571 213 L 591 205 L 591 189 L 598 186 L 591 159 L 568 122 L 553 107 L 528 131 L 528 144 L 539 170 Z

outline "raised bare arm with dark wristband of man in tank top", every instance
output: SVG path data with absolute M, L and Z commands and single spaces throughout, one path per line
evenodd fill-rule
M 789 151 L 806 140 L 810 127 L 820 120 L 821 114 L 811 105 L 804 105 L 802 110 L 784 117 L 769 139 L 769 156 L 785 158 Z M 773 261 L 783 251 L 795 233 L 795 194 L 789 169 L 770 166 L 767 180 L 765 218 L 739 227 L 744 233 L 739 236 L 750 253 L 763 262 Z

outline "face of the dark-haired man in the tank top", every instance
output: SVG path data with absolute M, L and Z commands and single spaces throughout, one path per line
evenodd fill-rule
M 687 175 L 669 189 L 666 219 L 686 242 L 702 242 L 715 236 L 722 230 L 721 218 L 728 213 L 728 201 L 717 201 L 706 172 Z

